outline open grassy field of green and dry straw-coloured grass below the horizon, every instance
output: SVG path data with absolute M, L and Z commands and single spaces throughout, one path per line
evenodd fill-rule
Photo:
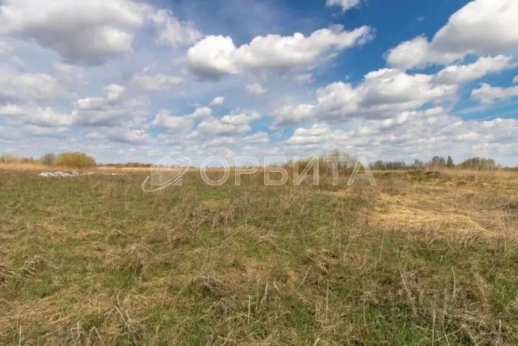
M 2 344 L 518 344 L 518 173 L 0 174 Z

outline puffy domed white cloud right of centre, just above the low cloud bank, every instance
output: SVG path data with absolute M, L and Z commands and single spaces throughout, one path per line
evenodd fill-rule
M 434 76 L 380 69 L 367 73 L 357 86 L 335 82 L 319 88 L 315 104 L 284 106 L 275 110 L 272 112 L 275 117 L 273 125 L 294 125 L 313 119 L 338 122 L 351 117 L 390 117 L 428 102 L 451 98 L 456 91 L 456 85 L 438 83 Z

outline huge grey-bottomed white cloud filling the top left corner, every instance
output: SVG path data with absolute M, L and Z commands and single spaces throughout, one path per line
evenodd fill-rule
M 66 63 L 102 65 L 132 52 L 136 31 L 152 24 L 161 44 L 192 43 L 200 34 L 172 13 L 131 0 L 6 0 L 0 33 L 59 53 Z

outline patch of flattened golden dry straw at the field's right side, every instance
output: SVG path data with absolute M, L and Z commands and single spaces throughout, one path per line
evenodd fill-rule
M 441 176 L 425 182 L 378 179 L 377 187 L 360 192 L 370 194 L 373 202 L 366 210 L 367 221 L 396 231 L 516 235 L 518 174 L 448 171 Z M 358 191 L 335 193 L 357 195 Z

